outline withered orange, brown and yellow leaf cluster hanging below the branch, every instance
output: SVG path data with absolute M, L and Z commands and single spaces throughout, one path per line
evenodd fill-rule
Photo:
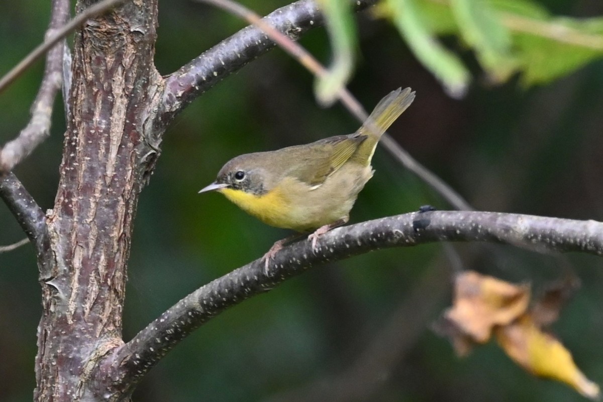
M 453 307 L 444 313 L 436 330 L 450 337 L 461 356 L 475 343 L 487 342 L 494 331 L 500 347 L 528 372 L 562 381 L 596 399 L 598 384 L 582 374 L 559 340 L 541 329 L 557 320 L 561 306 L 578 286 L 576 278 L 567 276 L 549 286 L 528 310 L 529 286 L 462 272 L 455 279 Z

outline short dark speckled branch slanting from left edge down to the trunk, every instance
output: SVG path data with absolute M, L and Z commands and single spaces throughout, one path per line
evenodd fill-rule
M 13 173 L 0 178 L 0 198 L 13 213 L 27 237 L 40 250 L 46 228 L 46 217 L 42 208 L 37 205 Z

